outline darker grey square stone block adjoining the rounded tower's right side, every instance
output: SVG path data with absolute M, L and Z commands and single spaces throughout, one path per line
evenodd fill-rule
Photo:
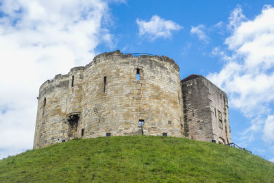
M 182 80 L 186 137 L 231 143 L 226 94 L 205 77 Z

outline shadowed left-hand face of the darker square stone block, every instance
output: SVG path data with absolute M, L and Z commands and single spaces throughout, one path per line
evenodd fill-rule
M 212 117 L 208 87 L 202 77 L 182 82 L 184 124 L 186 137 L 197 141 L 211 141 Z

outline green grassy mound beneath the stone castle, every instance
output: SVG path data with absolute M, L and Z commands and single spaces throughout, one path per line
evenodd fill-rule
M 0 182 L 274 182 L 274 164 L 165 136 L 76 139 L 0 160 Z

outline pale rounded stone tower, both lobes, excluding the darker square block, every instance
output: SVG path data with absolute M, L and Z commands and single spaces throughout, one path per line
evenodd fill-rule
M 102 53 L 40 87 L 34 148 L 72 138 L 184 136 L 179 67 L 166 56 Z

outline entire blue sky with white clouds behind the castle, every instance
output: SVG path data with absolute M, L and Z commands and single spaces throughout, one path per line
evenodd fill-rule
M 173 58 L 227 93 L 232 142 L 274 162 L 274 2 L 0 0 L 0 159 L 32 149 L 38 90 L 99 53 Z

